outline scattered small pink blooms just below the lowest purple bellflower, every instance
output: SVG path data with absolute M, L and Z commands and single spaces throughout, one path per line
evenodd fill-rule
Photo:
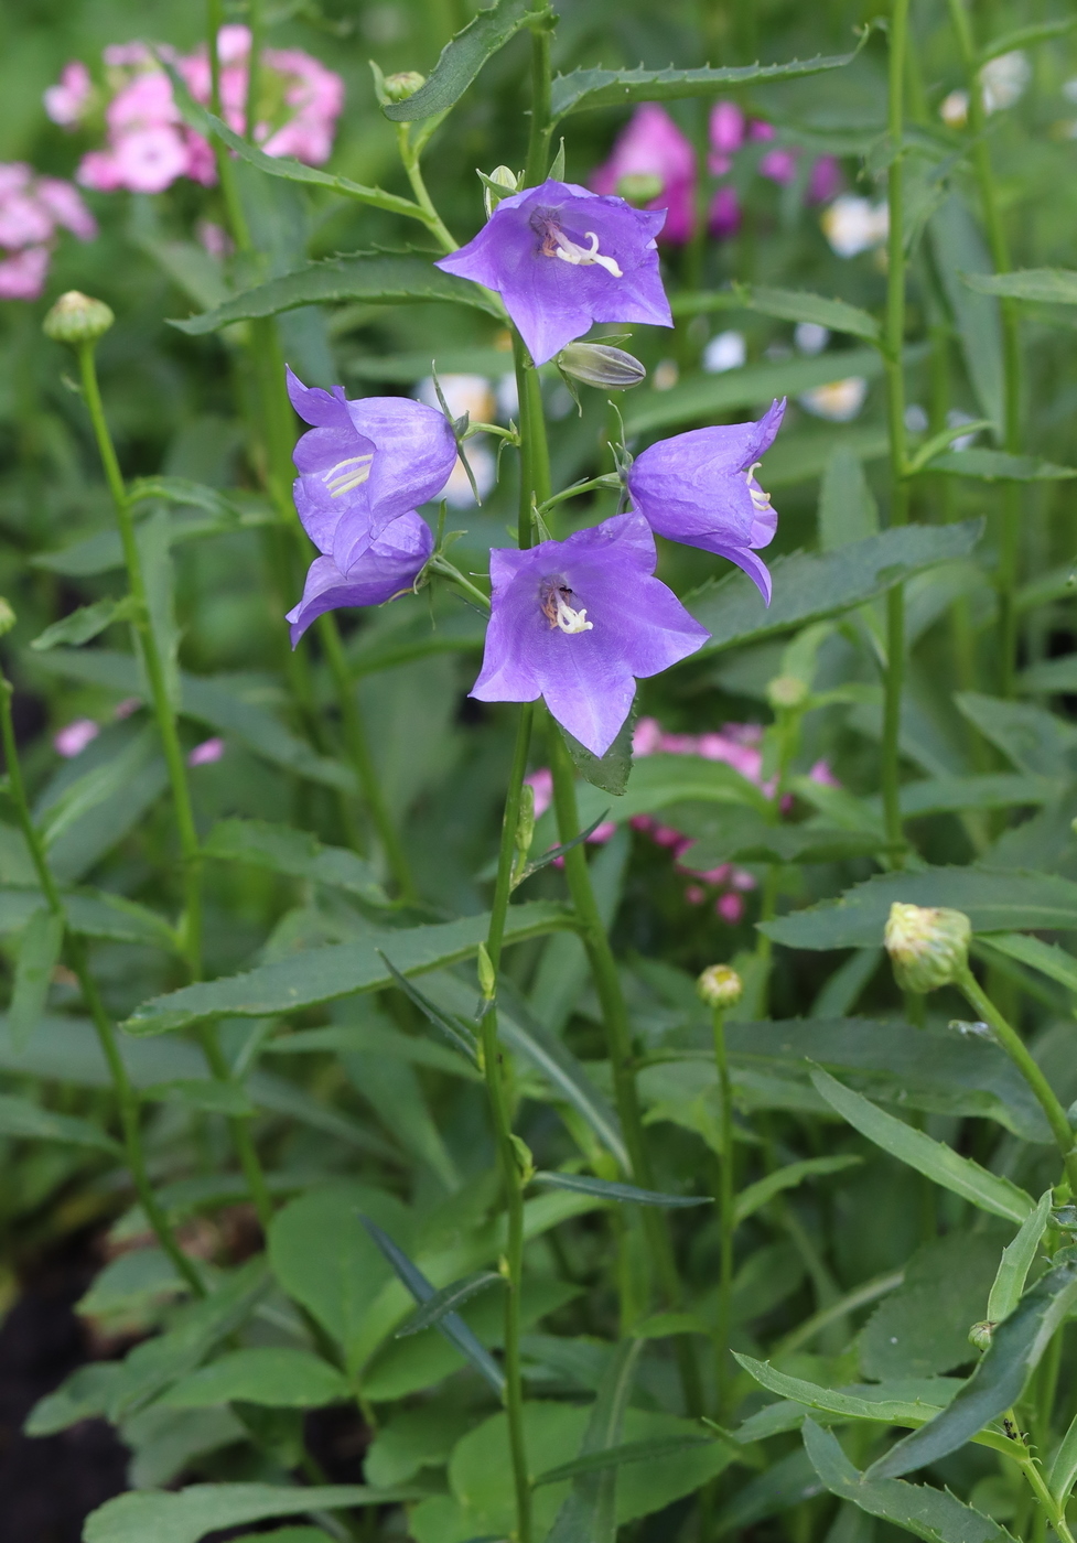
M 662 751 L 673 756 L 702 756 L 705 761 L 724 761 L 734 772 L 755 782 L 768 796 L 775 792 L 775 782 L 762 781 L 762 728 L 759 724 L 724 724 L 719 733 L 710 734 L 667 734 L 654 717 L 640 717 L 633 733 L 633 755 L 653 756 Z M 816 761 L 809 772 L 815 782 L 829 787 L 839 787 L 825 761 Z M 543 767 L 532 772 L 526 779 L 535 795 L 535 818 L 545 815 L 554 798 L 552 775 Z M 782 801 L 787 810 L 792 799 Z M 693 869 L 682 863 L 682 856 L 691 847 L 691 836 L 685 836 L 673 826 L 662 824 L 653 815 L 634 815 L 630 821 L 634 830 L 645 832 L 660 847 L 673 852 L 676 869 L 688 880 L 685 884 L 685 900 L 690 906 L 702 906 L 713 896 L 714 915 L 722 921 L 736 924 L 744 915 L 744 895 L 756 887 L 755 875 L 747 869 L 739 869 L 733 863 L 722 863 L 714 869 Z M 606 819 L 588 836 L 589 842 L 602 844 L 609 841 L 617 826 Z M 563 859 L 557 858 L 557 864 Z

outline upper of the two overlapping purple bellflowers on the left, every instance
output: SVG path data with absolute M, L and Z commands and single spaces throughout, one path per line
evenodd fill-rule
M 343 386 L 307 387 L 292 370 L 287 381 L 292 406 L 313 424 L 292 454 L 295 506 L 318 551 L 349 576 L 386 526 L 441 492 L 457 441 L 444 414 L 407 397 L 349 401 Z

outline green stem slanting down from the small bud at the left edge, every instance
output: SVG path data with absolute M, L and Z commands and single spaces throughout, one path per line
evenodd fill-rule
M 196 1296 L 205 1296 L 205 1284 L 202 1276 L 194 1268 L 191 1259 L 187 1258 L 184 1250 L 176 1241 L 176 1234 L 168 1222 L 168 1217 L 157 1202 L 153 1193 L 153 1185 L 150 1182 L 150 1174 L 147 1171 L 145 1153 L 142 1150 L 142 1125 L 139 1120 L 139 1096 L 131 1085 L 131 1079 L 127 1074 L 127 1066 L 119 1052 L 119 1045 L 116 1042 L 116 1029 L 111 1018 L 105 1012 L 105 1006 L 97 992 L 93 975 L 89 974 L 89 966 L 86 961 L 86 949 L 80 937 L 71 932 L 68 927 L 66 909 L 63 906 L 63 896 L 57 887 L 52 870 L 48 866 L 48 858 L 45 855 L 45 846 L 34 826 L 32 815 L 29 812 L 29 802 L 26 799 L 26 784 L 23 782 L 22 767 L 19 762 L 19 745 L 15 742 L 15 727 L 11 717 L 11 697 L 12 687 L 11 682 L 0 674 L 0 738 L 3 738 L 3 755 L 8 765 L 8 792 L 11 793 L 11 801 L 15 805 L 15 815 L 19 818 L 19 826 L 22 829 L 23 838 L 29 849 L 34 869 L 37 872 L 39 883 L 42 886 L 42 893 L 48 903 L 49 910 L 54 917 L 63 920 L 66 929 L 68 943 L 68 958 L 71 960 L 73 969 L 79 977 L 79 986 L 82 988 L 82 995 L 89 1008 L 89 1015 L 97 1032 L 97 1040 L 105 1055 L 110 1075 L 113 1079 L 113 1091 L 116 1094 L 116 1103 L 120 1116 L 120 1126 L 123 1129 L 123 1151 L 127 1156 L 127 1165 L 131 1171 L 134 1180 L 134 1190 L 139 1196 L 139 1204 L 145 1211 L 147 1221 L 153 1228 L 157 1242 L 162 1250 L 168 1254 L 176 1271 L 187 1281 L 190 1288 Z

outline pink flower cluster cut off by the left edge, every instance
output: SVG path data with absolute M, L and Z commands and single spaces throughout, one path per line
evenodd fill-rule
M 97 235 L 79 191 L 59 177 L 39 177 L 22 160 L 0 164 L 0 299 L 37 299 L 57 230 L 79 241 Z

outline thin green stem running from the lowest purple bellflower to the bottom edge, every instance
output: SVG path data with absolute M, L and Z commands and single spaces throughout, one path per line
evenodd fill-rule
M 528 770 L 528 751 L 531 748 L 531 727 L 534 722 L 534 704 L 525 702 L 520 708 L 515 748 L 512 751 L 512 767 L 509 785 L 505 796 L 505 818 L 501 821 L 501 844 L 497 859 L 497 883 L 491 904 L 489 932 L 486 935 L 486 952 L 497 980 L 497 969 L 501 961 L 501 943 L 505 938 L 505 920 L 512 893 L 512 864 L 515 858 L 515 835 L 520 824 L 520 804 L 523 795 L 523 778 Z M 486 1091 L 489 1094 L 494 1131 L 497 1136 L 497 1154 L 505 1185 L 505 1204 L 508 1211 L 508 1250 L 505 1258 L 505 1412 L 509 1423 L 509 1450 L 512 1455 L 512 1483 L 515 1489 L 515 1540 L 531 1543 L 531 1478 L 528 1475 L 528 1454 L 523 1432 L 523 1373 L 520 1369 L 520 1291 L 523 1288 L 523 1183 L 517 1148 L 512 1140 L 512 1114 L 501 1069 L 501 1052 L 497 1037 L 497 1000 L 491 997 L 481 1020 L 483 1071 L 486 1075 Z

